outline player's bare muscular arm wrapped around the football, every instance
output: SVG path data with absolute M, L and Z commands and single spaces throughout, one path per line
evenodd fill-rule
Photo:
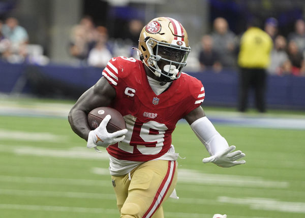
M 72 130 L 87 140 L 90 132 L 87 114 L 94 108 L 108 106 L 115 98 L 115 89 L 102 77 L 93 87 L 85 91 L 71 108 L 68 116 Z

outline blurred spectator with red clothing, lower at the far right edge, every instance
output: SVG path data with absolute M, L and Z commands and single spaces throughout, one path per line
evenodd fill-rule
M 305 76 L 304 55 L 299 51 L 295 41 L 288 43 L 288 57 L 291 62 L 291 74 L 294 76 Z

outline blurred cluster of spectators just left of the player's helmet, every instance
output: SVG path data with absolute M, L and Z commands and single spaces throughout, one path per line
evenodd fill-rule
M 89 16 L 84 16 L 72 27 L 69 54 L 81 65 L 104 67 L 115 56 L 135 56 L 132 47 L 138 47 L 140 20 L 131 20 L 124 39 L 109 39 L 105 26 L 96 26 Z

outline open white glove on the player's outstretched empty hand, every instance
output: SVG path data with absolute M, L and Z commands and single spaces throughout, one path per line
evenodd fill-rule
M 203 163 L 212 162 L 221 167 L 231 167 L 239 164 L 245 164 L 246 163 L 245 160 L 236 161 L 240 158 L 245 157 L 246 155 L 243 154 L 241 151 L 232 152 L 235 150 L 235 148 L 236 148 L 235 146 L 230 146 L 229 148 L 225 149 L 222 152 L 219 152 L 208 158 L 204 158 L 202 162 Z

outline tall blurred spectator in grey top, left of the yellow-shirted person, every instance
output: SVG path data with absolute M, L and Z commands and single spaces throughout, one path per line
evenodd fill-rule
M 220 57 L 224 67 L 233 67 L 236 62 L 236 35 L 229 30 L 228 22 L 222 17 L 214 20 L 214 32 L 211 37 L 214 41 L 214 49 Z

